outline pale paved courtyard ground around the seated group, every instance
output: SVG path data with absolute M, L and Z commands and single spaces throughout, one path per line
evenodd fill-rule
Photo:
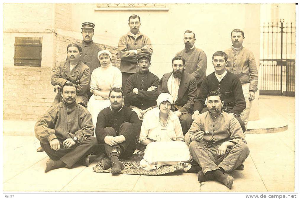
M 61 168 L 44 173 L 48 157 L 45 152 L 36 152 L 38 140 L 34 136 L 5 133 L 20 128 L 30 132 L 33 122 L 4 121 L 3 191 L 292 192 L 295 190 L 295 98 L 260 96 L 259 100 L 260 117 L 267 123 L 287 121 L 288 130 L 247 134 L 250 155 L 243 171 L 231 173 L 234 177 L 231 190 L 215 181 L 199 183 L 197 174 L 193 173 L 164 176 L 95 173 L 92 167 L 101 157 L 89 167 L 76 165 L 73 169 Z M 263 113 L 268 116 L 262 117 Z M 8 128 L 12 124 L 14 127 Z

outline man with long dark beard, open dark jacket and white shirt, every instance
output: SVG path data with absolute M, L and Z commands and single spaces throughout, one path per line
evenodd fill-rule
M 172 72 L 163 75 L 159 81 L 160 93 L 169 93 L 173 97 L 172 111 L 179 117 L 183 133 L 191 126 L 191 112 L 197 97 L 197 84 L 194 76 L 185 72 L 185 59 L 177 56 L 172 59 Z

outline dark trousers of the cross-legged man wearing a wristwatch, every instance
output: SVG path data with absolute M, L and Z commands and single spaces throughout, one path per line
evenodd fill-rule
M 59 139 L 58 139 L 59 140 Z M 61 160 L 68 168 L 79 161 L 84 156 L 90 155 L 94 146 L 97 144 L 97 139 L 93 136 L 88 137 L 80 143 L 76 143 L 72 148 L 64 149 L 63 142 L 60 142 L 60 149 L 55 151 L 50 148 L 50 144 L 41 143 L 41 147 L 45 150 L 51 160 Z

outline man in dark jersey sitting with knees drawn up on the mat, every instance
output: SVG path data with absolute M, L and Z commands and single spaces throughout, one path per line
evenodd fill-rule
M 123 169 L 119 158 L 130 157 L 136 149 L 136 136 L 141 122 L 131 108 L 123 106 L 123 91 L 114 87 L 109 94 L 111 106 L 103 109 L 97 118 L 95 133 L 100 148 L 110 160 L 103 160 L 104 169 L 112 166 L 112 174 Z

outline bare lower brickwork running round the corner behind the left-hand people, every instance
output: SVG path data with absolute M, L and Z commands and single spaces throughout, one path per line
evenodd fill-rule
M 56 35 L 56 64 L 66 59 L 66 47 L 77 42 L 74 38 Z M 112 52 L 112 63 L 119 67 L 117 49 L 98 44 Z M 42 60 L 43 62 L 43 60 Z M 51 85 L 52 67 L 3 67 L 3 118 L 7 120 L 36 120 L 51 106 L 56 93 Z

